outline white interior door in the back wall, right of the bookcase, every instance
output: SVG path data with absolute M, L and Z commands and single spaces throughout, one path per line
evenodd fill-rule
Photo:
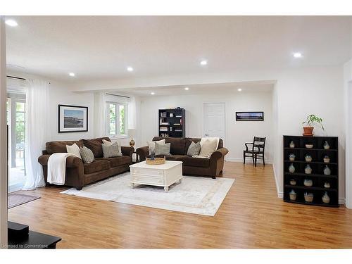
M 225 103 L 204 103 L 203 120 L 203 137 L 225 140 Z

